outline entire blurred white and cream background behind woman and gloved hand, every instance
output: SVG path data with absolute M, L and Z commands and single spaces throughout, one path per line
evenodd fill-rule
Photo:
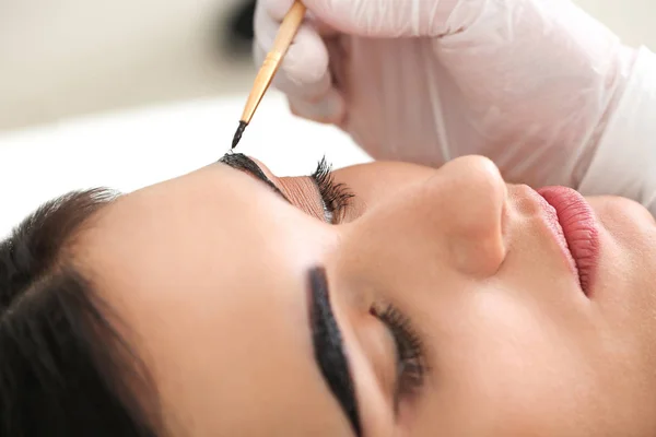
M 69 189 L 131 190 L 216 160 L 256 72 L 225 50 L 242 1 L 0 0 L 0 236 Z M 656 48 L 653 0 L 577 2 Z M 276 93 L 241 147 L 286 174 L 324 153 L 336 166 L 367 160 L 341 132 L 292 118 Z

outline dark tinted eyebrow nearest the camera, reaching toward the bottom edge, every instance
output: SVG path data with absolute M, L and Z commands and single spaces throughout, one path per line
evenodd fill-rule
M 326 272 L 323 268 L 314 268 L 308 274 L 309 324 L 315 361 L 355 435 L 361 437 L 362 424 L 355 401 L 353 377 L 344 353 L 342 335 L 330 307 Z

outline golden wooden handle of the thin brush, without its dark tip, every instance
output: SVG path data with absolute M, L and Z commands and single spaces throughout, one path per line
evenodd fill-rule
M 303 23 L 305 10 L 306 8 L 303 3 L 295 1 L 284 16 L 284 20 L 280 25 L 280 31 L 278 32 L 276 40 L 273 42 L 273 48 L 267 54 L 267 57 L 265 58 L 265 61 L 262 62 L 257 76 L 255 78 L 253 90 L 250 90 L 250 94 L 246 101 L 246 107 L 242 114 L 242 121 L 246 123 L 250 122 L 255 110 L 259 106 L 259 103 L 269 88 L 269 85 L 271 85 L 271 81 L 273 80 L 273 75 L 276 75 L 278 68 L 280 67 L 280 62 L 282 62 L 282 58 L 292 44 L 296 32 L 298 32 L 301 23 Z

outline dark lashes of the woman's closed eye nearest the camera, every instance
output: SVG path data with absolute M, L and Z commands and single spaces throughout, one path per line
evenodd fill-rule
M 421 339 L 410 319 L 393 305 L 372 307 L 371 315 L 379 319 L 391 332 L 397 350 L 397 386 L 395 402 L 414 395 L 424 383 L 426 365 Z

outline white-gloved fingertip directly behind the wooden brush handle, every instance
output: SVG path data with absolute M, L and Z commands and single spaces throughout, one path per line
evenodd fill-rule
M 268 0 L 268 3 L 276 2 Z M 271 50 L 279 28 L 278 15 L 271 14 L 263 5 L 258 7 L 254 42 L 256 64 L 261 64 Z M 290 96 L 319 101 L 330 87 L 328 62 L 324 40 L 311 24 L 303 23 L 281 62 L 273 85 Z

